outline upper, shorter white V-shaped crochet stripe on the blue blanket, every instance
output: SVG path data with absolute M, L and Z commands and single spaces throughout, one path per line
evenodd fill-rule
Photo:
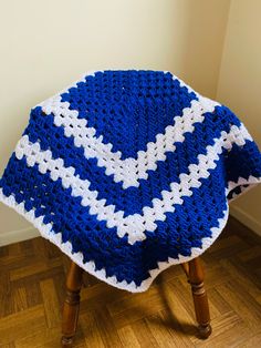
M 175 116 L 175 123 L 168 125 L 164 133 L 156 136 L 156 142 L 147 143 L 146 151 L 138 151 L 137 158 L 122 160 L 119 151 L 113 152 L 113 145 L 104 144 L 103 136 L 96 136 L 96 130 L 87 126 L 87 120 L 79 119 L 76 110 L 70 110 L 69 102 L 62 102 L 58 94 L 40 104 L 45 114 L 54 115 L 54 124 L 64 127 L 65 136 L 73 136 L 74 144 L 84 149 L 86 158 L 97 158 L 97 165 L 105 167 L 105 173 L 112 175 L 115 182 L 122 182 L 123 188 L 139 186 L 138 180 L 147 180 L 147 171 L 155 171 L 158 161 L 165 161 L 165 153 L 175 151 L 176 142 L 184 142 L 186 132 L 192 133 L 196 122 L 202 122 L 206 112 L 213 112 L 219 103 L 197 94 L 198 101 L 191 101 L 190 108 L 185 108 L 180 116 Z

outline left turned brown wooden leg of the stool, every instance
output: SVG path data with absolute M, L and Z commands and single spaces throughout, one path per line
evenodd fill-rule
M 83 269 L 72 263 L 66 278 L 66 297 L 62 317 L 62 347 L 72 347 L 77 327 Z

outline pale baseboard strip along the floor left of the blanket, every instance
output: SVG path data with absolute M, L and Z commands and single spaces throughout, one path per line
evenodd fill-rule
M 39 236 L 40 236 L 40 233 L 34 227 L 23 228 L 19 231 L 3 232 L 0 234 L 0 246 L 31 239 Z

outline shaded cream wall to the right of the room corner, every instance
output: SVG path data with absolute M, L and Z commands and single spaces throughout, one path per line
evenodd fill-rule
M 243 121 L 261 147 L 261 1 L 232 0 L 217 98 Z M 261 235 L 261 186 L 231 205 L 231 213 Z

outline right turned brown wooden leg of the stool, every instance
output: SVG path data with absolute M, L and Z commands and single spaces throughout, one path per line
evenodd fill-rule
M 211 334 L 208 297 L 203 287 L 203 269 L 199 257 L 189 262 L 189 283 L 191 285 L 199 335 L 208 338 Z

